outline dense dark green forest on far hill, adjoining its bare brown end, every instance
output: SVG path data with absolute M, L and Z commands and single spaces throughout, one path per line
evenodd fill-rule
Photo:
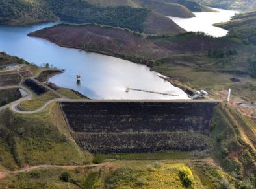
M 62 20 L 79 23 L 99 23 L 114 27 L 129 28 L 142 32 L 149 10 L 146 8 L 99 7 L 81 0 L 49 1 L 49 7 Z

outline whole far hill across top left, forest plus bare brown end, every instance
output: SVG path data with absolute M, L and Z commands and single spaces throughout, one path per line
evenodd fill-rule
M 171 19 L 147 8 L 103 7 L 83 0 L 6 0 L 1 2 L 0 24 L 24 25 L 57 20 L 97 23 L 151 34 L 177 34 L 184 31 Z

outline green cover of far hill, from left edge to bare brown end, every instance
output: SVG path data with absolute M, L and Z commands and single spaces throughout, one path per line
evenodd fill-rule
M 30 23 L 57 20 L 79 23 L 99 23 L 114 27 L 130 28 L 142 32 L 149 10 L 146 8 L 99 7 L 81 0 L 49 1 L 3 1 L 1 5 L 0 23 Z M 25 14 L 23 14 L 25 12 Z M 28 14 L 31 12 L 31 14 Z M 31 21 L 32 19 L 32 21 Z

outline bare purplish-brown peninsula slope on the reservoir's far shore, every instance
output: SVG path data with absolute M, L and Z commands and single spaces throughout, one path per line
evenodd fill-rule
M 155 59 L 172 53 L 146 41 L 140 34 L 97 25 L 57 25 L 38 30 L 29 36 L 44 38 L 63 47 L 75 47 L 125 59 L 131 59 L 132 56 Z

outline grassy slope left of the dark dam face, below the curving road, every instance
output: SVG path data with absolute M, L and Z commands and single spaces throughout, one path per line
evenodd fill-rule
M 36 164 L 89 162 L 70 136 L 58 104 L 34 115 L 1 112 L 0 164 L 9 170 Z

